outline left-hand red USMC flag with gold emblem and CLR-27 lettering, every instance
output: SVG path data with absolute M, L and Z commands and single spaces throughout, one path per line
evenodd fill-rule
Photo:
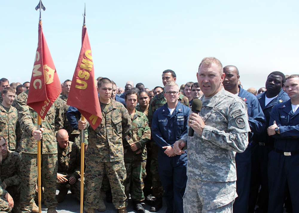
M 27 104 L 45 119 L 45 115 L 61 92 L 61 85 L 40 23 L 38 33 Z

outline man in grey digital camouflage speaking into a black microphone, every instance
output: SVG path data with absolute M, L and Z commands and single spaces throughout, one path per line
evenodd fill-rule
M 184 213 L 233 212 L 236 193 L 235 152 L 248 145 L 247 108 L 237 96 L 222 88 L 225 77 L 221 62 L 204 58 L 196 73 L 202 109 L 189 115 L 194 135 L 185 134 L 173 145 L 176 155 L 187 144 L 187 186 Z

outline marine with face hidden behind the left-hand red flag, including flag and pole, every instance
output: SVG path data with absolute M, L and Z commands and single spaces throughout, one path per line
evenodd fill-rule
M 17 110 L 23 130 L 20 147 L 22 159 L 20 176 L 22 189 L 19 212 L 41 212 L 41 184 L 44 187 L 45 207 L 48 213 L 55 213 L 57 200 L 57 143 L 55 131 L 62 128 L 60 102 L 56 100 L 61 92 L 60 81 L 42 32 L 41 10 L 39 9 L 39 35 L 29 90 L 17 98 Z M 35 188 L 39 174 L 39 209 L 34 203 Z

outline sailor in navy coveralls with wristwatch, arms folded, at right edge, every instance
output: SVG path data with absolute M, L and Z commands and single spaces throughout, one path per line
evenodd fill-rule
M 268 212 L 273 213 L 283 212 L 287 186 L 293 212 L 299 212 L 299 75 L 289 75 L 285 89 L 290 100 L 272 107 L 269 123 L 273 125 L 268 127 L 268 134 L 275 140 L 268 165 Z

